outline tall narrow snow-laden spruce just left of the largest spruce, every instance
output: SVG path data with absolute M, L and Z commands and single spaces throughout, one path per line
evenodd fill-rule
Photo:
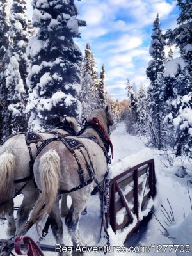
M 10 15 L 10 45 L 8 47 L 9 63 L 5 71 L 6 102 L 3 109 L 4 137 L 26 130 L 26 77 L 28 59 L 26 44 L 28 43 L 28 19 L 26 17 L 26 1 L 14 0 Z

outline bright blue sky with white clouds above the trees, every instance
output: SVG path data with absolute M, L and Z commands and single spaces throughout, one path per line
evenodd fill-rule
M 87 24 L 79 29 L 81 38 L 75 41 L 83 54 L 86 43 L 92 45 L 97 72 L 102 64 L 106 68 L 106 87 L 111 97 L 127 98 L 127 78 L 138 87 L 141 83 L 147 87 L 145 70 L 151 59 L 148 49 L 152 24 L 159 13 L 163 31 L 175 28 L 179 13 L 176 1 L 81 0 L 75 3 L 78 18 Z M 174 57 L 177 55 L 176 49 Z

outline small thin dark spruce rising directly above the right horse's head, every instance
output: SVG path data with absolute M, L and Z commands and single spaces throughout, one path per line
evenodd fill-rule
M 105 87 L 105 69 L 104 65 L 102 65 L 101 72 L 100 72 L 100 79 L 99 79 L 99 108 L 105 108 L 107 104 L 107 91 Z

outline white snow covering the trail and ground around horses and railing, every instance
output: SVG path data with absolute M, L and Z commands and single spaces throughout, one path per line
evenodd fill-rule
M 161 204 L 166 208 L 168 212 L 170 212 L 170 208 L 168 205 L 168 200 L 170 201 L 170 204 L 172 205 L 173 214 L 175 217 L 175 220 L 178 219 L 178 221 L 182 221 L 184 211 L 186 216 L 191 212 L 191 206 L 188 196 L 188 189 L 187 189 L 187 181 L 191 179 L 192 172 L 191 170 L 187 169 L 187 172 L 189 175 L 186 175 L 184 178 L 179 178 L 175 175 L 177 173 L 177 169 L 179 168 L 179 161 L 177 160 L 177 163 L 173 167 L 164 167 L 164 164 L 162 163 L 164 159 L 159 156 L 159 152 L 157 150 L 152 150 L 150 148 L 146 148 L 145 145 L 142 143 L 140 138 L 136 136 L 131 136 L 125 132 L 125 124 L 120 124 L 115 131 L 111 134 L 111 141 L 113 142 L 114 147 L 114 156 L 115 158 L 112 161 L 111 166 L 109 167 L 110 172 L 112 173 L 112 176 L 115 176 L 115 173 L 117 174 L 119 170 L 121 172 L 125 170 L 126 168 L 129 168 L 131 166 L 134 166 L 136 164 L 142 163 L 143 161 L 146 161 L 148 159 L 151 159 L 154 157 L 155 159 L 155 167 L 156 167 L 156 179 L 157 179 L 157 195 L 154 199 L 154 212 L 156 213 L 156 216 L 159 221 L 164 225 L 164 227 L 167 227 L 164 221 L 166 221 L 165 217 L 163 216 L 163 213 L 161 212 Z M 189 166 L 187 166 L 189 167 Z M 189 192 L 191 193 L 192 197 L 192 184 L 189 183 Z M 17 196 L 15 199 L 15 205 L 19 206 L 20 202 L 22 200 L 22 195 Z M 68 198 L 68 205 L 70 205 L 70 198 Z M 192 228 L 189 228 L 189 225 L 192 226 L 192 223 L 189 221 L 191 220 L 191 217 L 189 216 L 188 221 L 185 221 L 188 225 L 188 230 L 192 230 Z M 64 218 L 63 218 L 64 223 Z M 182 227 L 182 225 L 180 226 Z M 174 228 L 176 229 L 176 232 L 174 231 Z M 185 226 L 184 226 L 185 228 Z M 152 217 L 152 219 L 149 221 L 147 226 L 147 231 L 143 232 L 141 234 L 140 241 L 138 243 L 131 244 L 133 246 L 152 246 L 152 249 L 150 253 L 148 252 L 140 252 L 140 253 L 109 253 L 108 255 L 140 255 L 140 256 L 149 256 L 149 255 L 159 255 L 159 252 L 157 252 L 157 246 L 158 244 L 173 244 L 172 241 L 164 236 L 162 236 L 161 232 L 159 231 L 163 229 L 160 227 L 157 220 Z M 182 228 L 183 229 L 183 228 Z M 4 225 L 0 226 L 0 237 L 6 238 L 5 234 L 6 230 L 6 223 Z M 100 234 L 100 209 L 99 209 L 99 196 L 91 196 L 90 200 L 88 202 L 88 213 L 85 216 L 81 216 L 81 220 L 79 223 L 79 230 L 80 230 L 80 236 L 83 239 L 84 243 L 88 246 L 101 246 L 102 242 L 106 243 L 105 240 L 99 241 L 99 234 Z M 169 230 L 169 229 L 168 229 Z M 179 234 L 177 234 L 177 225 L 170 228 L 170 234 L 178 235 L 175 239 L 175 241 L 179 241 Z M 111 239 L 111 245 L 113 246 L 123 246 L 122 237 L 119 236 L 120 234 L 114 234 L 111 230 L 111 227 L 108 228 L 108 232 L 110 234 Z M 124 235 L 126 230 L 123 230 Z M 188 231 L 189 232 L 189 231 Z M 66 245 L 71 245 L 72 241 L 70 237 L 68 236 L 67 228 L 65 227 L 65 224 L 63 224 L 63 234 L 64 234 L 64 243 Z M 29 230 L 28 235 L 33 237 L 35 241 L 38 241 L 38 234 L 36 234 L 35 228 L 31 228 Z M 122 234 L 123 235 L 123 234 Z M 182 234 L 182 236 L 184 236 Z M 188 237 L 188 234 L 186 234 L 186 237 Z M 174 239 L 172 239 L 174 241 Z M 185 241 L 185 240 L 184 240 Z M 182 243 L 184 243 L 182 241 Z M 189 241 L 191 241 L 189 239 Z M 45 237 L 45 240 L 42 241 L 43 244 L 52 244 L 54 245 L 54 238 L 52 237 L 52 232 L 49 230 L 49 234 Z M 192 243 L 192 242 L 191 242 Z M 184 244 L 185 245 L 185 244 Z M 184 253 L 185 256 L 191 256 L 192 255 L 192 244 L 191 246 L 191 252 Z M 160 247 L 159 247 L 160 248 Z M 164 248 L 163 248 L 164 249 Z M 169 248 L 170 249 L 170 248 Z M 151 254 L 152 253 L 152 254 Z M 54 256 L 56 255 L 54 252 L 44 252 L 45 256 Z M 86 255 L 89 256 L 99 256 L 102 255 L 100 253 L 86 253 Z M 176 253 L 174 250 L 172 252 L 161 252 L 161 255 L 169 255 L 169 256 L 175 256 Z

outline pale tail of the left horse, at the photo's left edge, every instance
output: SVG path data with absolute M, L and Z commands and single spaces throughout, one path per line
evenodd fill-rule
M 14 174 L 16 170 L 15 156 L 10 152 L 4 152 L 0 156 L 0 218 L 6 218 L 10 198 L 13 191 Z

